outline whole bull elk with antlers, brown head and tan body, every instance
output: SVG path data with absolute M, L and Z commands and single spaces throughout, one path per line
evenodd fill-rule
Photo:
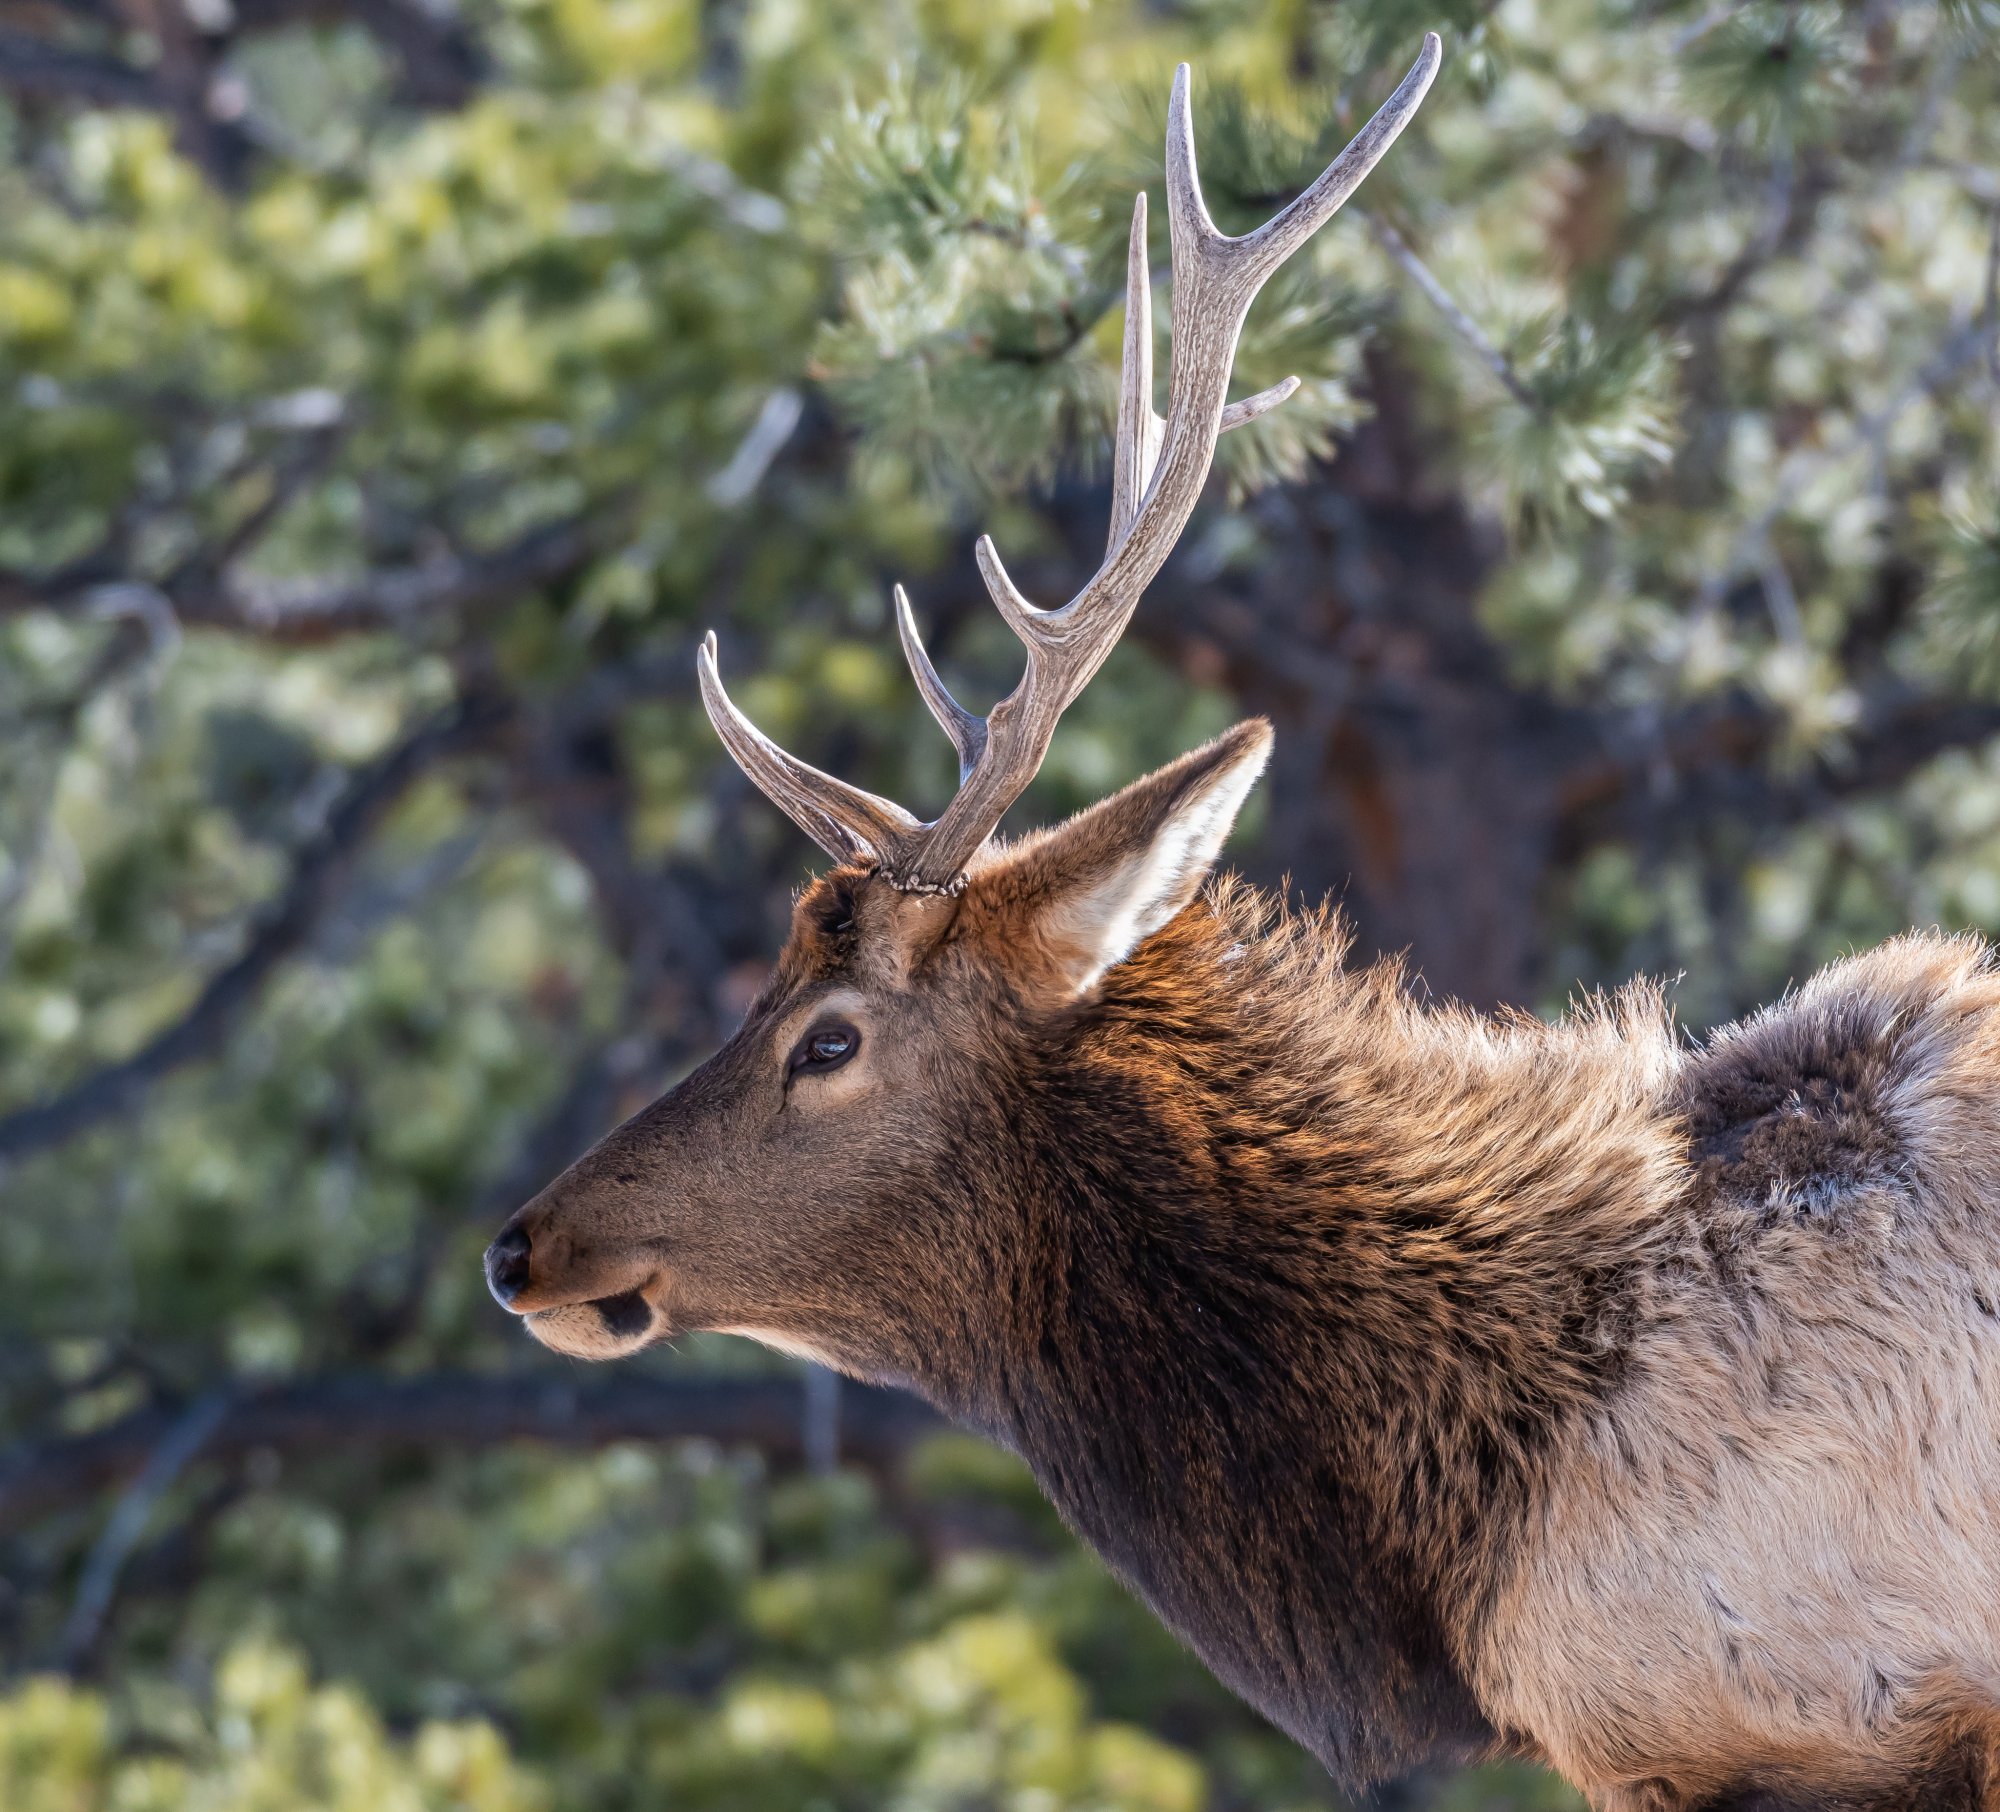
M 1350 968 L 1210 880 L 1246 722 L 1006 842 L 1188 522 L 1252 298 L 1438 68 L 1244 238 L 1166 132 L 1172 370 L 1134 210 L 1110 542 L 934 824 L 730 702 L 832 872 L 742 1030 L 522 1208 L 558 1352 L 748 1334 L 1020 1452 L 1214 1672 L 1350 1784 L 1534 1756 L 1604 1812 L 2000 1808 L 2000 976 L 1912 936 L 1702 1046 L 1634 984 L 1562 1024 Z

